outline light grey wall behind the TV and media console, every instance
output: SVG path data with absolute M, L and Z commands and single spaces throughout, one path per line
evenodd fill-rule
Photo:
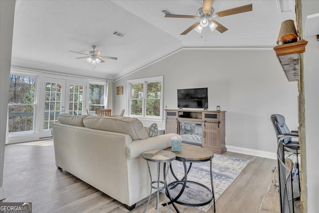
M 298 127 L 297 82 L 288 82 L 274 50 L 181 50 L 116 81 L 124 95 L 114 96 L 113 108 L 127 108 L 127 80 L 159 75 L 167 109 L 177 109 L 177 89 L 208 87 L 209 110 L 227 111 L 226 146 L 275 153 L 273 113 L 283 114 L 290 129 Z

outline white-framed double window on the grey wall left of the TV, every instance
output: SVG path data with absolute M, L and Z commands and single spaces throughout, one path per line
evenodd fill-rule
M 128 81 L 130 116 L 162 118 L 162 82 L 162 76 Z

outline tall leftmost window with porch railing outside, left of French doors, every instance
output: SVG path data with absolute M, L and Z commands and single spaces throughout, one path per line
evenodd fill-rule
M 35 77 L 10 75 L 8 98 L 9 134 L 33 133 Z

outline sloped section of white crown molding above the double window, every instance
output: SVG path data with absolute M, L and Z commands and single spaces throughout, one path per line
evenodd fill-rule
M 166 57 L 168 57 L 171 54 L 174 54 L 175 52 L 179 51 L 182 49 L 182 43 L 177 40 L 173 43 L 170 43 L 169 45 L 166 45 L 159 49 L 158 51 L 150 54 L 148 57 L 143 58 L 130 66 L 127 66 L 120 70 L 118 73 L 114 74 L 114 79 L 119 80 L 129 74 L 132 74 L 146 66 L 149 66 L 157 61 L 160 61 Z

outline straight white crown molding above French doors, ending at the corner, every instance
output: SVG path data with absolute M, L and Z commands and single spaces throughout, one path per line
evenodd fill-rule
M 19 57 L 11 58 L 11 68 L 29 71 L 40 71 L 49 74 L 72 74 L 86 78 L 113 79 L 113 75 L 108 75 L 100 71 L 92 71 L 73 67 L 50 64 L 42 61 L 28 60 Z

